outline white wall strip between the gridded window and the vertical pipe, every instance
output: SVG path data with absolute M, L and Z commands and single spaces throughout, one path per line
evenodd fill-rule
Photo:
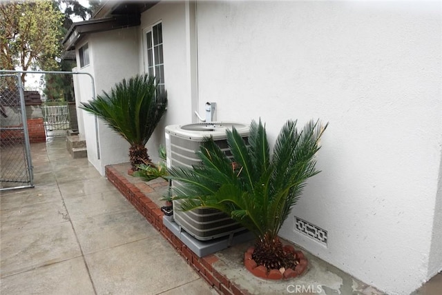
M 140 34 L 145 28 L 162 21 L 164 81 L 169 100 L 166 114 L 146 145 L 153 161 L 158 160 L 159 145 L 164 145 L 166 125 L 191 123 L 193 119 L 192 101 L 196 99 L 193 83 L 196 81 L 191 77 L 190 41 L 186 36 L 186 26 L 191 21 L 186 18 L 188 6 L 189 3 L 184 1 L 160 2 L 142 14 Z M 193 18 L 192 21 L 194 20 Z M 139 55 L 141 72 L 144 72 L 143 45 L 140 44 Z

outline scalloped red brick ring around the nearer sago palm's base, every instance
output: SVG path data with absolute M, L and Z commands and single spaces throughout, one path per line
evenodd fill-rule
M 244 266 L 251 272 L 254 276 L 258 278 L 267 278 L 269 280 L 282 280 L 285 278 L 296 278 L 307 271 L 308 261 L 304 254 L 300 251 L 296 251 L 291 245 L 284 246 L 285 252 L 289 252 L 296 256 L 296 260 L 299 262 L 295 269 L 267 269 L 263 265 L 257 265 L 256 261 L 253 260 L 252 254 L 255 251 L 255 247 L 249 247 L 247 252 L 244 254 Z

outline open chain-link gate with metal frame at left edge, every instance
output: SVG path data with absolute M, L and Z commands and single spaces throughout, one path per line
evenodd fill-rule
M 0 191 L 33 186 L 20 75 L 0 74 Z

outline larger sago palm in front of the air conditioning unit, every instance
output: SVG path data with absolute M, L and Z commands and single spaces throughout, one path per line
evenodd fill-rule
M 175 199 L 182 210 L 218 209 L 253 234 L 253 259 L 267 268 L 293 267 L 294 257 L 285 253 L 278 232 L 298 201 L 305 181 L 319 173 L 315 155 L 327 125 L 310 121 L 298 132 L 296 121 L 287 121 L 270 154 L 265 126 L 252 121 L 248 143 L 233 128 L 227 130 L 229 159 L 212 139 L 204 141 L 193 169 L 172 167 Z

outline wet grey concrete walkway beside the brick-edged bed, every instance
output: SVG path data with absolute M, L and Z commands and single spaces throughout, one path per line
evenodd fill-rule
M 217 294 L 66 139 L 31 152 L 35 188 L 1 192 L 0 294 Z

